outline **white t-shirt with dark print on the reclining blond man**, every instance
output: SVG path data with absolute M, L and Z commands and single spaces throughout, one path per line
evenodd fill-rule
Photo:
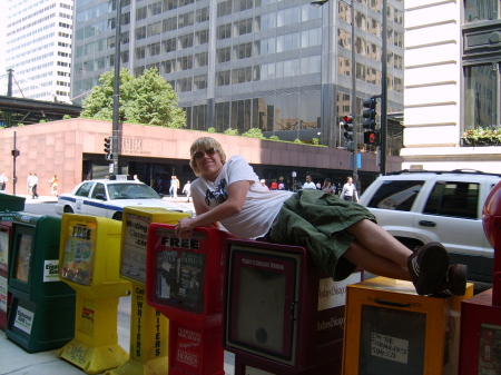
M 266 190 L 261 186 L 253 167 L 240 156 L 232 156 L 214 182 L 203 177 L 191 182 L 194 200 L 208 203 L 208 209 L 217 207 L 228 197 L 227 187 L 236 181 L 248 180 L 250 185 L 245 197 L 243 209 L 220 221 L 228 231 L 239 238 L 256 238 L 266 235 L 278 215 L 283 203 L 291 197 L 292 191 Z

